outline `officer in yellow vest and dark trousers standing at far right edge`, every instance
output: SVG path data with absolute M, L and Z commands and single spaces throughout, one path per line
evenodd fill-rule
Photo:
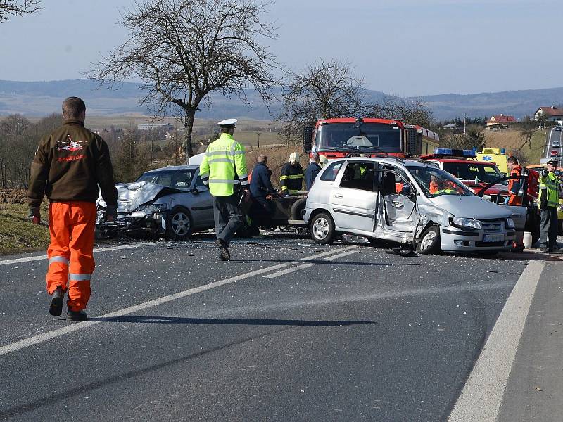
M 559 250 L 557 245 L 557 207 L 559 207 L 557 185 L 559 180 L 555 176 L 557 158 L 552 158 L 546 165 L 547 168 L 540 173 L 540 195 L 538 197 L 541 215 L 540 250 L 553 252 Z

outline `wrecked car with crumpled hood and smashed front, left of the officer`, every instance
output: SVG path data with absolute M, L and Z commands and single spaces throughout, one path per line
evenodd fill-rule
M 115 184 L 118 219 L 103 221 L 106 203 L 98 199 L 96 226 L 102 236 L 163 235 L 185 240 L 194 231 L 213 229 L 213 197 L 199 177 L 196 165 L 150 170 L 133 183 Z

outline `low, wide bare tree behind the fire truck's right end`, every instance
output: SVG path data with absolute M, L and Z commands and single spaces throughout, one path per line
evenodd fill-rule
M 407 99 L 386 95 L 381 103 L 375 104 L 369 115 L 384 119 L 398 119 L 407 124 L 431 127 L 434 124 L 432 111 L 422 98 Z

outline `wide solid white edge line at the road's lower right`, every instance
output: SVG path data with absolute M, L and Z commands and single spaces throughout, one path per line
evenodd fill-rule
M 502 309 L 448 422 L 494 422 L 545 263 L 531 261 Z

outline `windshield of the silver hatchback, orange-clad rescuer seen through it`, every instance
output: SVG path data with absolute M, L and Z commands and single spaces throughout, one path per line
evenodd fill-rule
M 408 166 L 407 169 L 429 198 L 442 195 L 474 196 L 467 186 L 444 170 L 422 166 Z

